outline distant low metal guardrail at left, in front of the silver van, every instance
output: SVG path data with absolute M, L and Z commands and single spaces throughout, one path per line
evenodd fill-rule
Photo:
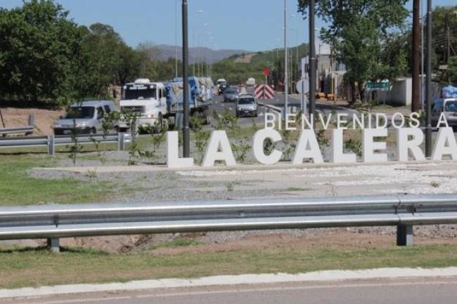
M 103 138 L 103 135 L 96 134 L 91 136 L 77 136 L 79 144 L 89 145 L 95 142 L 98 143 L 117 143 L 119 151 L 124 150 L 125 143 L 131 140 L 130 135 L 127 133 L 110 134 Z M 71 136 L 27 136 L 27 137 L 11 137 L 0 138 L 1 148 L 13 147 L 47 147 L 48 154 L 53 155 L 56 151 L 56 146 L 71 145 Z

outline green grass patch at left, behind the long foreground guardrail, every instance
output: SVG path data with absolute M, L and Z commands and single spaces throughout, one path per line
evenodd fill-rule
M 31 178 L 27 169 L 53 166 L 46 155 L 0 156 L 0 206 L 55 203 L 86 203 L 106 201 L 112 194 L 112 184 L 75 178 Z

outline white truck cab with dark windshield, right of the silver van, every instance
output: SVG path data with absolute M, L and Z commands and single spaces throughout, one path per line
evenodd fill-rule
M 136 79 L 124 86 L 120 100 L 120 112 L 131 112 L 137 115 L 137 128 L 162 126 L 162 119 L 167 114 L 167 94 L 162 82 L 151 82 L 149 79 Z M 129 128 L 124 121 L 120 131 Z

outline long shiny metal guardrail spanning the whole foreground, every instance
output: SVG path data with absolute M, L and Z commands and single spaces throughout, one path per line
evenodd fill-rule
M 47 238 L 58 249 L 60 237 L 397 225 L 397 244 L 407 245 L 412 225 L 449 223 L 457 223 L 455 194 L 52 204 L 0 208 L 0 239 Z

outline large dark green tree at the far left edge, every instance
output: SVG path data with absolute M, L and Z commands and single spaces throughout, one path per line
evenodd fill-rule
M 65 103 L 81 32 L 51 0 L 0 9 L 0 94 L 27 103 Z

